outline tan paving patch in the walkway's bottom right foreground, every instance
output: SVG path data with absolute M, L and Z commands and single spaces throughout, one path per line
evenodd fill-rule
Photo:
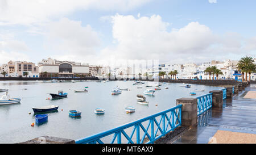
M 256 134 L 218 130 L 208 144 L 256 144 Z

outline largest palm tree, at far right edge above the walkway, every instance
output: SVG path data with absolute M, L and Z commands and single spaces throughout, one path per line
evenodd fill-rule
M 247 73 L 249 73 L 250 67 L 254 65 L 253 62 L 254 62 L 254 59 L 253 59 L 253 57 L 250 57 L 250 56 L 242 57 L 238 61 L 237 67 L 239 66 L 239 68 L 245 72 L 245 80 L 246 81 L 247 81 Z

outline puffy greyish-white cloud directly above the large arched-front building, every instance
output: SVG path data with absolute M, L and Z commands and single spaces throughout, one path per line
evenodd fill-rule
M 100 46 L 99 33 L 90 25 L 82 27 L 80 21 L 62 18 L 51 22 L 46 27 L 46 47 L 53 49 L 60 55 L 73 53 L 73 55 L 91 55 L 95 48 Z

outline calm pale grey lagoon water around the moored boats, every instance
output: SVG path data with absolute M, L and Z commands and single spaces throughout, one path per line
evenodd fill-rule
M 105 83 L 95 81 L 76 83 L 0 81 L 0 89 L 9 89 L 10 97 L 22 98 L 18 104 L 0 106 L 0 143 L 19 143 L 45 135 L 76 140 L 167 110 L 176 105 L 177 98 L 197 97 L 207 94 L 211 90 L 222 88 L 192 84 L 191 88 L 185 88 L 181 87 L 184 85 L 183 83 L 162 83 L 161 90 L 156 91 L 153 97 L 144 95 L 149 102 L 146 106 L 137 104 L 136 95 L 143 94 L 147 82 L 144 85 L 135 86 L 133 83 L 133 81 Z M 88 93 L 74 93 L 74 90 L 83 89 L 85 86 L 88 86 Z M 122 94 L 119 95 L 112 95 L 111 91 L 115 86 L 131 90 L 122 91 Z M 143 86 L 143 88 L 137 89 L 137 86 Z M 166 86 L 169 89 L 164 89 Z M 22 90 L 23 88 L 27 88 L 27 90 Z M 197 91 L 197 95 L 190 96 L 189 92 L 195 89 L 204 89 L 205 91 Z M 58 90 L 68 93 L 68 97 L 58 100 L 46 99 L 51 98 L 51 95 L 47 93 L 57 93 Z M 158 106 L 155 106 L 156 103 Z M 51 104 L 58 105 L 59 110 L 48 113 L 47 123 L 35 124 L 34 127 L 31 127 L 30 124 L 35 123 L 32 107 Z M 126 114 L 126 106 L 134 106 L 136 111 L 133 114 Z M 105 109 L 104 115 L 94 114 L 94 109 L 98 107 Z M 69 117 L 69 110 L 81 111 L 81 118 Z M 30 115 L 29 112 L 31 112 Z

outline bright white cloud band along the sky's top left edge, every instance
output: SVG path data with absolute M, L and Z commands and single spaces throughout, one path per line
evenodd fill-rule
M 69 14 L 75 10 L 127 11 L 151 0 L 1 0 L 0 25 L 42 24 L 50 18 Z

